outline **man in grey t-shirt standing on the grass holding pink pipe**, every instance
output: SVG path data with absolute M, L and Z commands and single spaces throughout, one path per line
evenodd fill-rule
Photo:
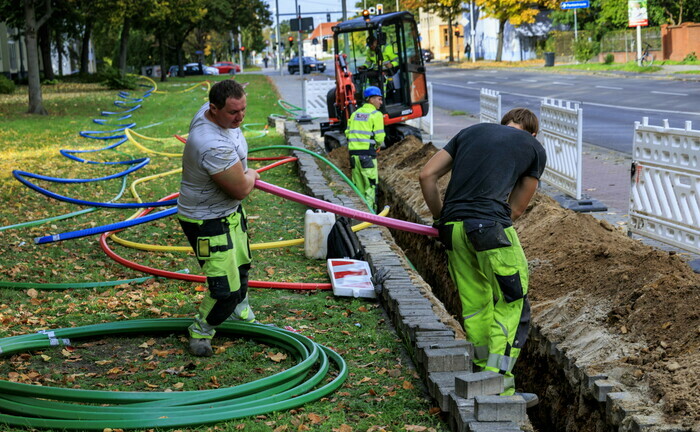
M 207 278 L 209 293 L 189 327 L 190 351 L 213 354 L 215 328 L 226 319 L 255 321 L 248 303 L 251 253 L 241 201 L 260 178 L 248 169 L 240 130 L 246 95 L 234 80 L 220 81 L 195 114 L 182 154 L 178 218 Z

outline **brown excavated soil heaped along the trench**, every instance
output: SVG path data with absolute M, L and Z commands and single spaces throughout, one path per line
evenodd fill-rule
M 416 222 L 430 220 L 418 173 L 434 153 L 431 144 L 411 137 L 378 157 L 382 190 L 396 195 L 393 205 Z M 346 149 L 330 156 L 348 172 Z M 447 181 L 441 180 L 443 191 Z M 612 373 L 667 421 L 697 428 L 700 275 L 682 257 L 630 239 L 592 215 L 563 209 L 544 194 L 535 196 L 515 227 L 530 262 L 533 319 L 543 333 L 560 342 L 579 367 Z M 439 249 L 417 252 L 428 267 L 444 259 Z M 443 298 L 450 296 L 450 282 L 429 282 L 441 285 L 436 295 L 460 316 L 454 297 Z

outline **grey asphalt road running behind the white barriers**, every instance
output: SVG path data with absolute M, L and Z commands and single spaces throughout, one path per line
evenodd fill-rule
M 431 67 L 433 103 L 448 111 L 478 116 L 481 88 L 501 94 L 503 112 L 524 106 L 539 112 L 542 98 L 578 102 L 583 109 L 583 141 L 632 153 L 634 122 L 668 119 L 672 127 L 690 120 L 700 125 L 700 84 L 601 75 L 575 75 L 522 70 L 460 70 Z

